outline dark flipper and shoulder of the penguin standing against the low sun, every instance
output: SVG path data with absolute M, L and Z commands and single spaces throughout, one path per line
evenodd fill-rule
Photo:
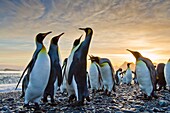
M 156 70 L 155 70 L 155 67 L 154 67 L 152 61 L 147 58 L 139 58 L 139 60 L 142 60 L 143 62 L 145 62 L 146 66 L 148 67 L 148 69 L 150 71 L 150 77 L 151 77 L 153 89 L 155 91 L 156 90 Z

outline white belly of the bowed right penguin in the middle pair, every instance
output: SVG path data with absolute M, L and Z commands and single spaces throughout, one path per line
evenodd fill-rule
M 101 67 L 104 88 L 111 91 L 113 88 L 113 78 L 111 68 L 108 64 Z

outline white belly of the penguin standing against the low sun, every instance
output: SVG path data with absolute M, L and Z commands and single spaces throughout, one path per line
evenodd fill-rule
M 151 96 L 153 85 L 151 82 L 150 72 L 148 67 L 142 60 L 139 60 L 136 63 L 136 74 L 141 90 L 143 90 L 144 93 L 148 96 Z

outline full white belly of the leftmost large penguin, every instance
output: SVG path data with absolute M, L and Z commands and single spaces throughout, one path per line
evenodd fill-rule
M 30 73 L 25 103 L 30 101 L 39 103 L 49 80 L 50 67 L 51 64 L 48 54 L 39 53 Z

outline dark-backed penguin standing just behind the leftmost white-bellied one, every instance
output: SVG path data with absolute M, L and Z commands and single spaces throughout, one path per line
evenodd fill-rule
M 58 40 L 63 34 L 64 33 L 61 33 L 60 35 L 55 36 L 51 39 L 50 49 L 48 52 L 50 56 L 50 60 L 51 60 L 50 78 L 44 91 L 43 102 L 48 101 L 47 96 L 49 95 L 51 98 L 51 103 L 55 104 L 54 94 L 56 93 L 57 88 L 55 88 L 54 83 L 57 81 L 58 87 L 60 87 L 62 83 L 62 70 L 61 70 L 61 65 L 60 65 Z

